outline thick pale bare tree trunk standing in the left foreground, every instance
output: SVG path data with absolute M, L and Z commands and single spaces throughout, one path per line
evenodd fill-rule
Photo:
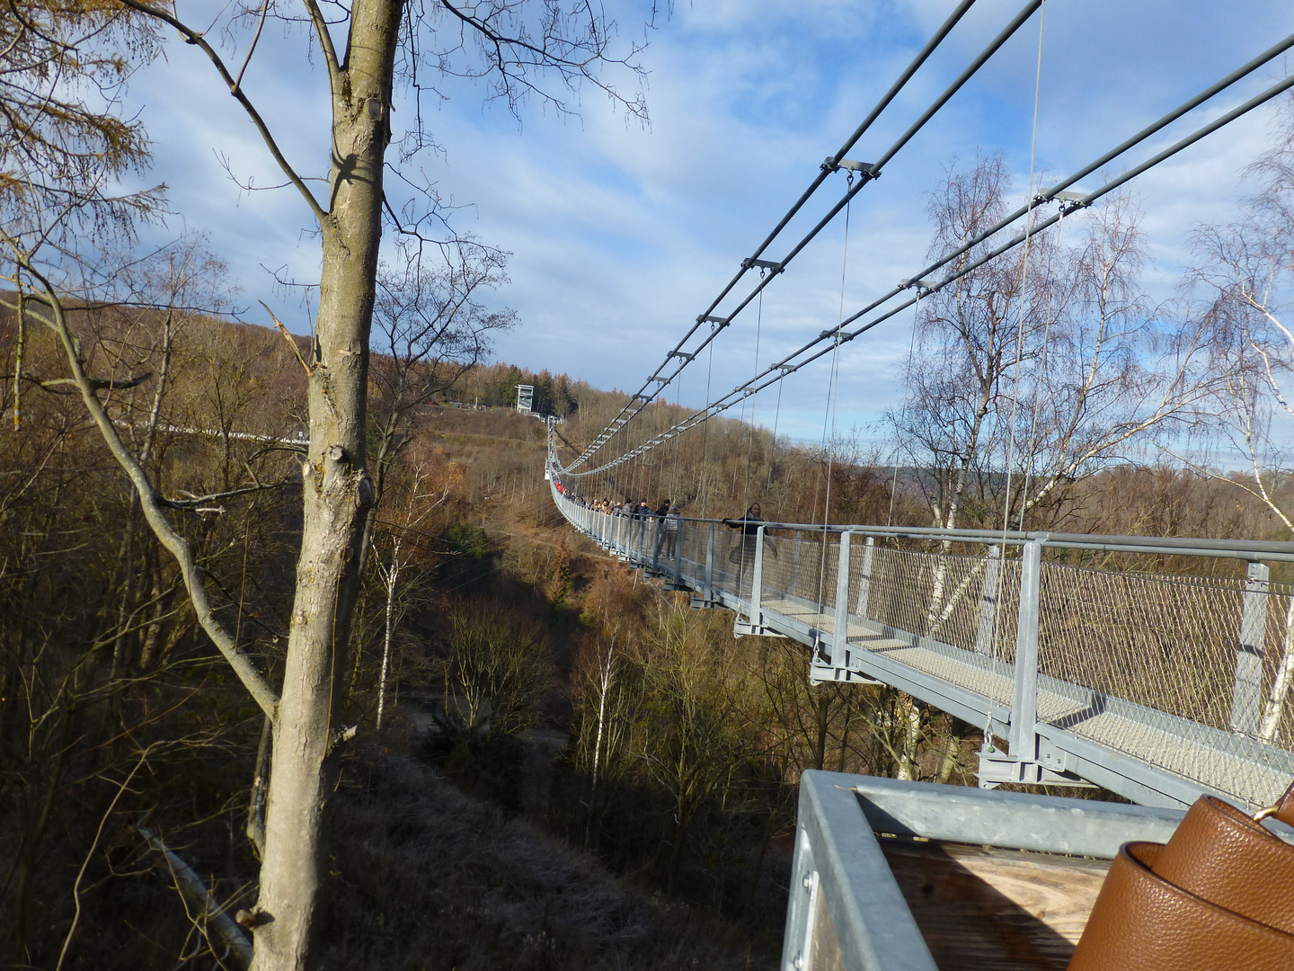
M 324 267 L 309 375 L 309 461 L 292 627 L 274 725 L 265 860 L 252 971 L 309 961 L 331 791 L 329 753 L 358 585 L 364 514 L 369 328 L 382 237 L 382 164 L 401 4 L 365 0 L 333 78 L 333 171 L 321 220 Z

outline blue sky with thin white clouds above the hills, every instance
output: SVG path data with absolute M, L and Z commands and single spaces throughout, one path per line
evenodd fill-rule
M 188 16 L 197 21 L 193 12 L 204 6 L 192 5 Z M 608 3 L 624 38 L 642 36 L 642 6 Z M 453 224 L 459 232 L 514 254 L 511 284 L 497 300 L 518 311 L 521 326 L 498 340 L 497 357 L 635 390 L 952 6 L 952 0 L 679 0 L 650 32 L 641 58 L 650 73 L 646 128 L 587 89 L 575 117 L 532 102 L 518 119 L 485 104 L 477 85 L 440 85 L 446 100 L 427 109 L 424 124 L 443 150 L 415 164 L 458 207 Z M 1018 6 L 980 0 L 850 157 L 877 155 Z M 211 5 L 210 16 L 219 9 Z M 1294 4 L 1288 0 L 1048 0 L 1038 168 L 1073 171 L 1290 32 Z M 920 269 L 929 237 L 925 193 L 951 158 L 1002 151 L 1027 179 L 1038 43 L 1035 14 L 858 197 L 846 315 Z M 1127 164 L 1290 67 L 1275 62 L 1260 70 Z M 617 80 L 633 84 L 628 76 Z M 309 63 L 304 36 L 268 27 L 246 85 L 289 158 L 303 172 L 322 175 L 325 82 Z M 291 190 L 248 193 L 230 179 L 221 158 L 245 183 L 281 181 L 210 67 L 193 48 L 168 44 L 166 58 L 137 75 L 131 100 L 155 141 L 155 175 L 182 214 L 170 230 L 208 233 L 243 303 L 258 307 L 265 299 L 304 330 L 304 308 L 274 286 L 268 269 L 317 280 L 309 216 Z M 396 124 L 411 114 L 408 102 L 397 102 Z M 1245 192 L 1240 172 L 1264 146 L 1269 126 L 1269 113 L 1255 113 L 1134 184 L 1154 258 L 1146 277 L 1152 293 L 1171 293 L 1193 225 L 1228 218 Z M 833 176 L 805 220 L 817 220 L 842 188 L 844 175 Z M 788 243 L 805 220 L 792 224 Z M 839 223 L 767 291 L 762 361 L 836 324 Z M 775 243 L 766 255 L 778 258 L 784 249 Z M 753 311 L 716 344 L 712 388 L 731 388 L 753 373 Z M 259 318 L 250 313 L 248 320 Z M 841 430 L 864 427 L 901 397 L 895 365 L 907 352 L 910 328 L 908 312 L 842 351 Z M 666 394 L 699 405 L 705 381 L 704 370 L 688 369 L 682 387 Z M 779 430 L 818 440 L 827 385 L 826 360 L 789 378 Z M 757 421 L 773 423 L 775 399 L 775 390 L 760 395 Z

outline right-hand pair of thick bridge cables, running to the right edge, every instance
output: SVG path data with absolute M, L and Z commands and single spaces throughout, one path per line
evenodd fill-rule
M 1294 45 L 1294 39 L 1291 39 L 1291 45 Z M 1102 198 L 1104 195 L 1108 195 L 1109 193 L 1114 192 L 1115 189 L 1118 189 L 1119 186 L 1122 186 L 1126 183 L 1131 181 L 1132 179 L 1137 177 L 1139 175 L 1143 175 L 1144 172 L 1149 171 L 1150 168 L 1154 168 L 1156 166 L 1163 163 L 1168 158 L 1171 158 L 1171 157 L 1176 155 L 1178 153 L 1183 151 L 1184 149 L 1194 145 L 1201 139 L 1205 139 L 1209 135 L 1211 135 L 1215 131 L 1218 131 L 1219 128 L 1223 128 L 1227 124 L 1231 124 L 1237 118 L 1241 118 L 1241 117 L 1249 114 L 1250 111 L 1253 111 L 1254 109 L 1260 107 L 1262 105 L 1267 104 L 1268 101 L 1271 101 L 1272 98 L 1275 98 L 1278 95 L 1284 93 L 1285 91 L 1289 91 L 1290 88 L 1294 88 L 1294 75 L 1290 75 L 1289 78 L 1285 78 L 1284 80 L 1273 84 L 1272 87 L 1269 87 L 1266 91 L 1263 91 L 1262 93 L 1251 97 L 1250 100 L 1245 101 L 1244 104 L 1238 105 L 1237 107 L 1232 109 L 1231 111 L 1225 113 L 1224 115 L 1222 115 L 1222 117 L 1216 118 L 1215 120 L 1210 122 L 1209 124 L 1206 124 L 1206 126 L 1196 129 L 1194 132 L 1192 132 L 1190 135 L 1185 136 L 1184 139 L 1180 139 L 1179 141 L 1174 142 L 1172 145 L 1170 145 L 1168 148 L 1163 149 L 1162 151 L 1156 153 L 1149 159 L 1146 159 L 1146 161 L 1141 162 L 1140 164 L 1137 164 L 1135 167 L 1127 170 L 1126 172 L 1123 172 L 1122 175 L 1117 176 L 1115 179 L 1112 179 L 1110 181 L 1105 183 L 1104 185 L 1101 185 L 1100 188 L 1095 189 L 1093 192 L 1090 192 L 1090 193 L 1086 193 L 1086 194 L 1073 193 L 1071 194 L 1073 198 L 1068 199 L 1061 206 L 1061 208 L 1060 208 L 1058 212 L 1048 216 L 1047 219 L 1036 223 L 1035 225 L 1033 225 L 1030 228 L 1026 228 L 1024 232 L 1021 232 L 1017 236 L 1012 237 L 1011 240 L 1008 240 L 1007 242 L 1002 243 L 1000 246 L 998 246 L 998 247 L 995 247 L 995 249 L 992 249 L 992 250 L 982 254 L 981 256 L 976 258 L 974 260 L 972 260 L 965 267 L 961 267 L 955 273 L 949 274 L 947 277 L 945 277 L 943 280 L 939 280 L 938 282 L 930 282 L 928 280 L 917 280 L 917 278 L 902 281 L 899 284 L 899 286 L 894 287 L 889 293 L 884 294 L 883 296 L 877 298 L 872 303 L 867 304 L 861 311 L 857 311 L 855 313 L 853 313 L 849 317 L 846 317 L 844 320 L 844 322 L 840 325 L 840 328 L 832 328 L 829 330 L 824 330 L 822 334 L 819 334 L 818 337 L 815 337 L 814 339 L 809 340 L 807 343 L 805 343 L 798 350 L 796 350 L 792 353 L 789 353 L 782 361 L 778 361 L 776 364 L 770 365 L 761 374 L 757 374 L 751 381 L 740 385 L 734 392 L 729 392 L 723 397 L 721 397 L 721 399 L 718 399 L 716 401 L 712 401 L 707 408 L 704 408 L 704 409 L 701 409 L 699 412 L 695 412 L 692 416 L 690 416 L 688 418 L 686 418 L 683 422 L 679 422 L 678 425 L 673 426 L 672 429 L 668 429 L 665 432 L 661 432 L 661 435 L 657 435 L 656 438 L 650 439 L 648 441 L 643 443 L 642 445 L 638 447 L 638 449 L 655 448 L 656 445 L 661 444 L 661 441 L 665 441 L 669 438 L 673 438 L 674 435 L 679 434 L 681 431 L 686 431 L 686 430 L 688 430 L 691 427 L 695 427 L 696 425 L 699 425 L 703 421 L 708 421 L 709 418 L 712 418 L 712 417 L 714 417 L 717 414 L 723 413 L 725 410 L 727 410 L 729 408 L 731 408 L 734 404 L 736 404 L 740 400 L 739 397 L 734 397 L 734 394 L 738 392 L 738 391 L 745 391 L 747 388 L 751 388 L 754 392 L 762 391 L 763 388 L 769 387 L 770 385 L 782 381 L 788 374 L 792 374 L 792 373 L 800 370 L 801 368 L 804 368 L 804 366 L 806 366 L 809 364 L 813 364 L 814 361 L 817 361 L 818 359 L 823 357 L 824 355 L 831 353 L 832 350 L 833 350 L 835 343 L 829 343 L 826 347 L 819 348 L 817 351 L 817 353 L 813 353 L 809 357 L 804 357 L 802 360 L 797 360 L 797 359 L 801 355 L 805 355 L 809 351 L 813 351 L 814 348 L 818 348 L 818 346 L 823 340 L 827 340 L 827 339 L 832 339 L 833 340 L 836 338 L 837 329 L 841 330 L 839 338 L 840 338 L 840 340 L 842 343 L 853 340 L 854 338 L 861 337 L 862 334 L 867 333 L 868 330 L 871 330 L 872 328 L 877 326 L 879 324 L 883 324 L 886 320 L 889 320 L 890 317 L 893 317 L 893 316 L 895 316 L 898 313 L 902 313 L 903 311 L 906 311 L 910 307 L 916 306 L 916 303 L 920 299 L 923 299 L 924 296 L 928 296 L 928 295 L 930 295 L 933 293 L 937 293 L 937 291 L 947 287 L 949 285 L 956 282 L 958 280 L 960 280 L 961 277 L 967 276 L 968 273 L 974 272 L 980 267 L 985 265 L 986 263 L 990 263 L 991 260 L 996 259 L 998 256 L 1003 255 L 1004 252 L 1008 252 L 1009 250 L 1013 250 L 1014 247 L 1025 243 L 1033 236 L 1036 236 L 1036 234 L 1042 233 L 1043 230 L 1046 230 L 1046 229 L 1048 229 L 1048 228 L 1058 224 L 1066 215 L 1077 212 L 1077 211 L 1079 211 L 1082 208 L 1087 208 L 1088 206 L 1091 206 L 1097 199 Z M 1053 198 L 1056 198 L 1056 197 L 1057 195 L 1053 194 Z M 1024 208 L 1020 210 L 1020 215 L 1025 215 L 1026 211 L 1027 210 L 1024 210 Z M 989 230 L 986 230 L 983 234 L 981 234 L 981 237 L 977 237 L 977 240 L 980 242 L 982 242 L 991 233 Z M 949 256 L 941 259 L 937 264 L 932 264 L 932 265 L 933 267 L 946 265 L 952 259 L 956 259 L 956 256 L 963 255 L 969 249 L 972 249 L 973 245 L 974 245 L 974 241 L 972 241 L 970 243 L 967 243 L 967 245 L 959 247 L 956 251 L 954 251 Z M 925 273 L 930 271 L 930 268 L 932 267 L 927 267 L 921 272 L 921 274 L 919 274 L 919 276 L 924 277 Z M 867 313 L 870 313 L 870 312 L 872 312 L 875 309 L 881 308 L 884 304 L 889 303 L 895 296 L 899 296 L 901 294 L 903 294 L 908 289 L 916 289 L 917 290 L 917 295 L 912 296 L 912 298 L 910 298 L 907 300 L 905 300 L 903 303 L 901 303 L 901 304 L 898 304 L 898 306 L 895 306 L 893 308 L 886 309 L 881 316 L 875 317 L 875 318 L 867 321 L 866 324 L 863 324 L 862 326 L 857 328 L 855 330 L 850 330 L 850 331 L 842 330 L 845 326 L 857 322 L 858 320 L 861 320 L 862 317 L 864 317 Z M 638 451 L 638 449 L 635 449 L 635 451 Z M 631 453 L 629 453 L 629 454 L 631 454 Z M 613 461 L 619 461 L 619 460 L 613 460 Z M 602 466 L 602 467 L 604 467 L 604 466 Z

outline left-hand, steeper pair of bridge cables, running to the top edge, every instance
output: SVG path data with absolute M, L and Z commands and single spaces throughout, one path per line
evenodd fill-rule
M 963 3 L 959 4 L 956 9 L 954 9 L 954 12 L 943 22 L 939 30 L 936 31 L 934 36 L 932 36 L 930 40 L 927 41 L 925 47 L 921 48 L 921 50 L 912 60 L 912 62 L 903 71 L 903 74 L 899 75 L 898 80 L 876 104 L 876 106 L 863 120 L 863 123 L 846 140 L 845 145 L 841 146 L 841 149 L 835 155 L 829 157 L 826 162 L 823 162 L 818 175 L 814 177 L 809 189 L 806 189 L 801 194 L 800 199 L 797 199 L 792 205 L 791 210 L 778 221 L 774 230 L 765 238 L 762 243 L 760 243 L 754 255 L 741 262 L 741 267 L 738 271 L 736 276 L 734 276 L 732 280 L 727 284 L 727 286 L 725 286 L 721 290 L 719 295 L 710 302 L 710 306 L 705 309 L 705 312 L 697 315 L 695 324 L 687 330 L 687 333 L 678 342 L 674 350 L 666 353 L 664 363 L 652 373 L 651 377 L 647 378 L 639 392 L 629 399 L 629 401 L 621 409 L 620 414 L 617 414 L 616 418 L 612 419 L 612 422 L 603 430 L 603 432 L 598 436 L 598 439 L 593 444 L 590 444 L 590 447 L 585 451 L 585 453 L 582 453 L 580 457 L 576 458 L 575 462 L 572 462 L 572 465 L 569 466 L 571 469 L 576 469 L 581 463 L 591 458 L 593 454 L 595 454 L 598 449 L 603 444 L 606 444 L 607 440 L 617 435 L 620 430 L 630 419 L 633 419 L 643 409 L 643 407 L 646 407 L 647 401 L 651 400 L 655 392 L 659 392 L 661 388 L 669 385 L 674 379 L 674 377 L 677 377 L 678 373 L 682 372 L 683 368 L 686 368 L 692 359 L 695 359 L 695 355 L 703 351 L 705 346 L 716 338 L 718 331 L 722 331 L 725 328 L 727 328 L 732 322 L 732 318 L 738 313 L 740 313 L 747 306 L 749 306 L 751 300 L 753 300 L 754 296 L 758 293 L 761 293 L 765 286 L 771 284 L 774 277 L 776 277 L 785 269 L 787 264 L 792 259 L 795 259 L 795 256 L 798 255 L 800 251 L 805 246 L 807 246 L 809 242 L 811 242 L 840 214 L 840 210 L 844 208 L 844 206 L 849 202 L 849 199 L 851 199 L 858 192 L 862 190 L 863 185 L 867 185 L 868 183 L 879 179 L 881 175 L 881 167 L 885 163 L 888 163 L 908 141 L 911 141 L 912 137 L 915 137 L 915 135 L 930 120 L 930 118 L 933 118 L 934 114 L 938 113 L 938 110 L 943 107 L 943 105 L 947 104 L 947 101 L 958 91 L 960 91 L 960 88 L 964 87 L 965 83 L 972 76 L 974 76 L 974 74 L 987 62 L 987 60 L 994 53 L 996 53 L 996 50 L 1020 28 L 1020 26 L 1022 26 L 1029 19 L 1029 17 L 1033 16 L 1033 13 L 1043 3 L 1043 0 L 1029 0 L 1024 5 L 1024 8 L 1016 14 L 1016 17 L 1012 18 L 1012 21 L 1007 25 L 1007 27 L 1004 27 L 998 34 L 998 36 L 994 38 L 994 40 L 990 41 L 990 44 L 974 58 L 974 61 L 972 61 L 972 63 L 965 70 L 963 70 L 963 73 L 956 78 L 956 80 L 954 80 L 952 84 L 950 84 L 943 91 L 943 93 L 938 98 L 936 98 L 934 102 L 932 102 L 932 105 L 921 114 L 921 117 L 907 128 L 907 131 L 899 137 L 899 140 L 895 141 L 889 148 L 888 151 L 885 151 L 885 154 L 881 157 L 879 162 L 859 163 L 859 162 L 853 162 L 851 159 L 846 159 L 844 157 L 845 153 L 850 148 L 853 148 L 853 145 L 871 127 L 872 122 L 875 122 L 876 118 L 880 117 L 881 111 L 889 106 L 889 104 L 894 100 L 898 92 L 902 91 L 902 88 L 912 78 L 916 70 L 927 61 L 930 53 L 933 53 L 933 50 L 938 47 L 938 44 L 961 19 L 965 12 L 972 6 L 973 1 L 974 0 L 963 0 Z M 818 221 L 818 224 L 792 247 L 792 250 L 787 256 L 784 256 L 782 260 L 778 262 L 760 259 L 760 255 L 765 252 L 766 249 L 773 243 L 773 241 L 782 233 L 782 230 L 787 227 L 791 219 L 802 208 L 802 206 L 807 202 L 807 199 L 823 184 L 826 177 L 832 172 L 840 171 L 841 168 L 848 168 L 851 175 L 854 172 L 861 173 L 862 177 L 858 185 L 851 185 L 850 189 L 846 192 L 845 197 L 840 199 L 837 203 L 835 203 L 835 206 L 828 211 L 828 214 L 823 216 Z M 731 311 L 723 317 L 713 316 L 713 312 L 719 306 L 719 303 L 722 303 L 722 300 L 732 291 L 732 289 L 738 285 L 738 282 L 740 282 L 740 280 L 745 276 L 745 273 L 756 267 L 762 269 L 771 269 L 770 276 L 767 278 L 761 278 L 761 282 L 754 287 L 754 290 L 751 294 L 748 294 L 745 299 L 741 300 L 741 303 L 734 311 Z M 691 339 L 691 337 L 696 333 L 696 330 L 700 329 L 700 326 L 707 322 L 714 322 L 718 324 L 719 326 L 717 329 L 713 329 L 712 333 L 707 335 L 705 339 L 697 347 L 692 348 L 690 353 L 683 353 L 682 348 L 685 347 L 685 344 Z M 675 356 L 681 357 L 682 363 L 668 377 L 664 375 L 664 372 L 669 369 L 670 360 Z M 652 387 L 653 385 L 656 387 Z

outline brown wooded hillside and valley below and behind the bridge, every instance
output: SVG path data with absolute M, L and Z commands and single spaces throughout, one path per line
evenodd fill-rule
M 158 308 L 85 307 L 71 326 L 101 373 L 120 375 L 104 400 L 193 550 L 212 614 L 276 681 L 302 528 L 292 510 L 307 342 Z M 13 348 L 16 315 L 0 328 Z M 5 416 L 0 839 L 14 861 L 4 892 L 16 918 L 5 946 L 35 966 L 57 963 L 65 943 L 65 966 L 226 955 L 219 922 L 202 910 L 232 915 L 255 898 L 265 719 L 203 634 L 179 566 L 83 405 L 48 378 L 57 352 L 31 331 L 28 388 L 21 412 Z M 396 365 L 382 359 L 373 370 Z M 978 731 L 921 709 L 914 748 L 911 699 L 811 687 L 797 645 L 734 638 L 730 616 L 690 610 L 573 535 L 542 478 L 542 422 L 446 404 L 471 379 L 497 387 L 501 375 L 512 369 L 468 372 L 400 413 L 340 672 L 340 717 L 362 744 L 339 763 L 327 891 L 336 917 L 321 946 L 356 967 L 415 959 L 405 941 L 440 941 L 432 963 L 446 967 L 487 967 L 503 953 L 597 967 L 619 948 L 643 967 L 701 954 L 771 966 L 798 774 L 973 785 Z M 380 382 L 370 391 L 379 443 L 392 413 Z M 573 404 L 559 429 L 575 444 L 624 400 L 567 387 Z M 644 419 L 664 427 L 681 414 L 659 401 Z M 824 454 L 717 419 L 660 452 L 626 470 L 625 495 L 677 497 L 707 515 L 753 497 L 811 522 L 829 474 L 833 519 L 929 522 L 911 470 L 895 478 L 849 443 Z M 1062 522 L 1074 528 L 1282 528 L 1258 497 L 1189 469 L 1115 466 L 1065 496 Z M 472 861 L 487 838 L 466 834 L 487 831 L 503 840 L 498 853 L 531 861 L 525 900 L 538 910 L 496 891 L 475 898 L 470 888 L 493 878 L 453 893 L 424 882 L 419 860 L 449 873 L 485 865 Z M 361 835 L 375 832 L 388 835 Z M 177 861 L 210 897 L 185 889 Z M 380 876 L 392 873 L 409 883 Z M 450 896 L 453 905 L 436 902 Z M 457 936 L 459 908 L 498 922 L 496 944 Z M 646 939 L 659 950 L 642 950 Z

